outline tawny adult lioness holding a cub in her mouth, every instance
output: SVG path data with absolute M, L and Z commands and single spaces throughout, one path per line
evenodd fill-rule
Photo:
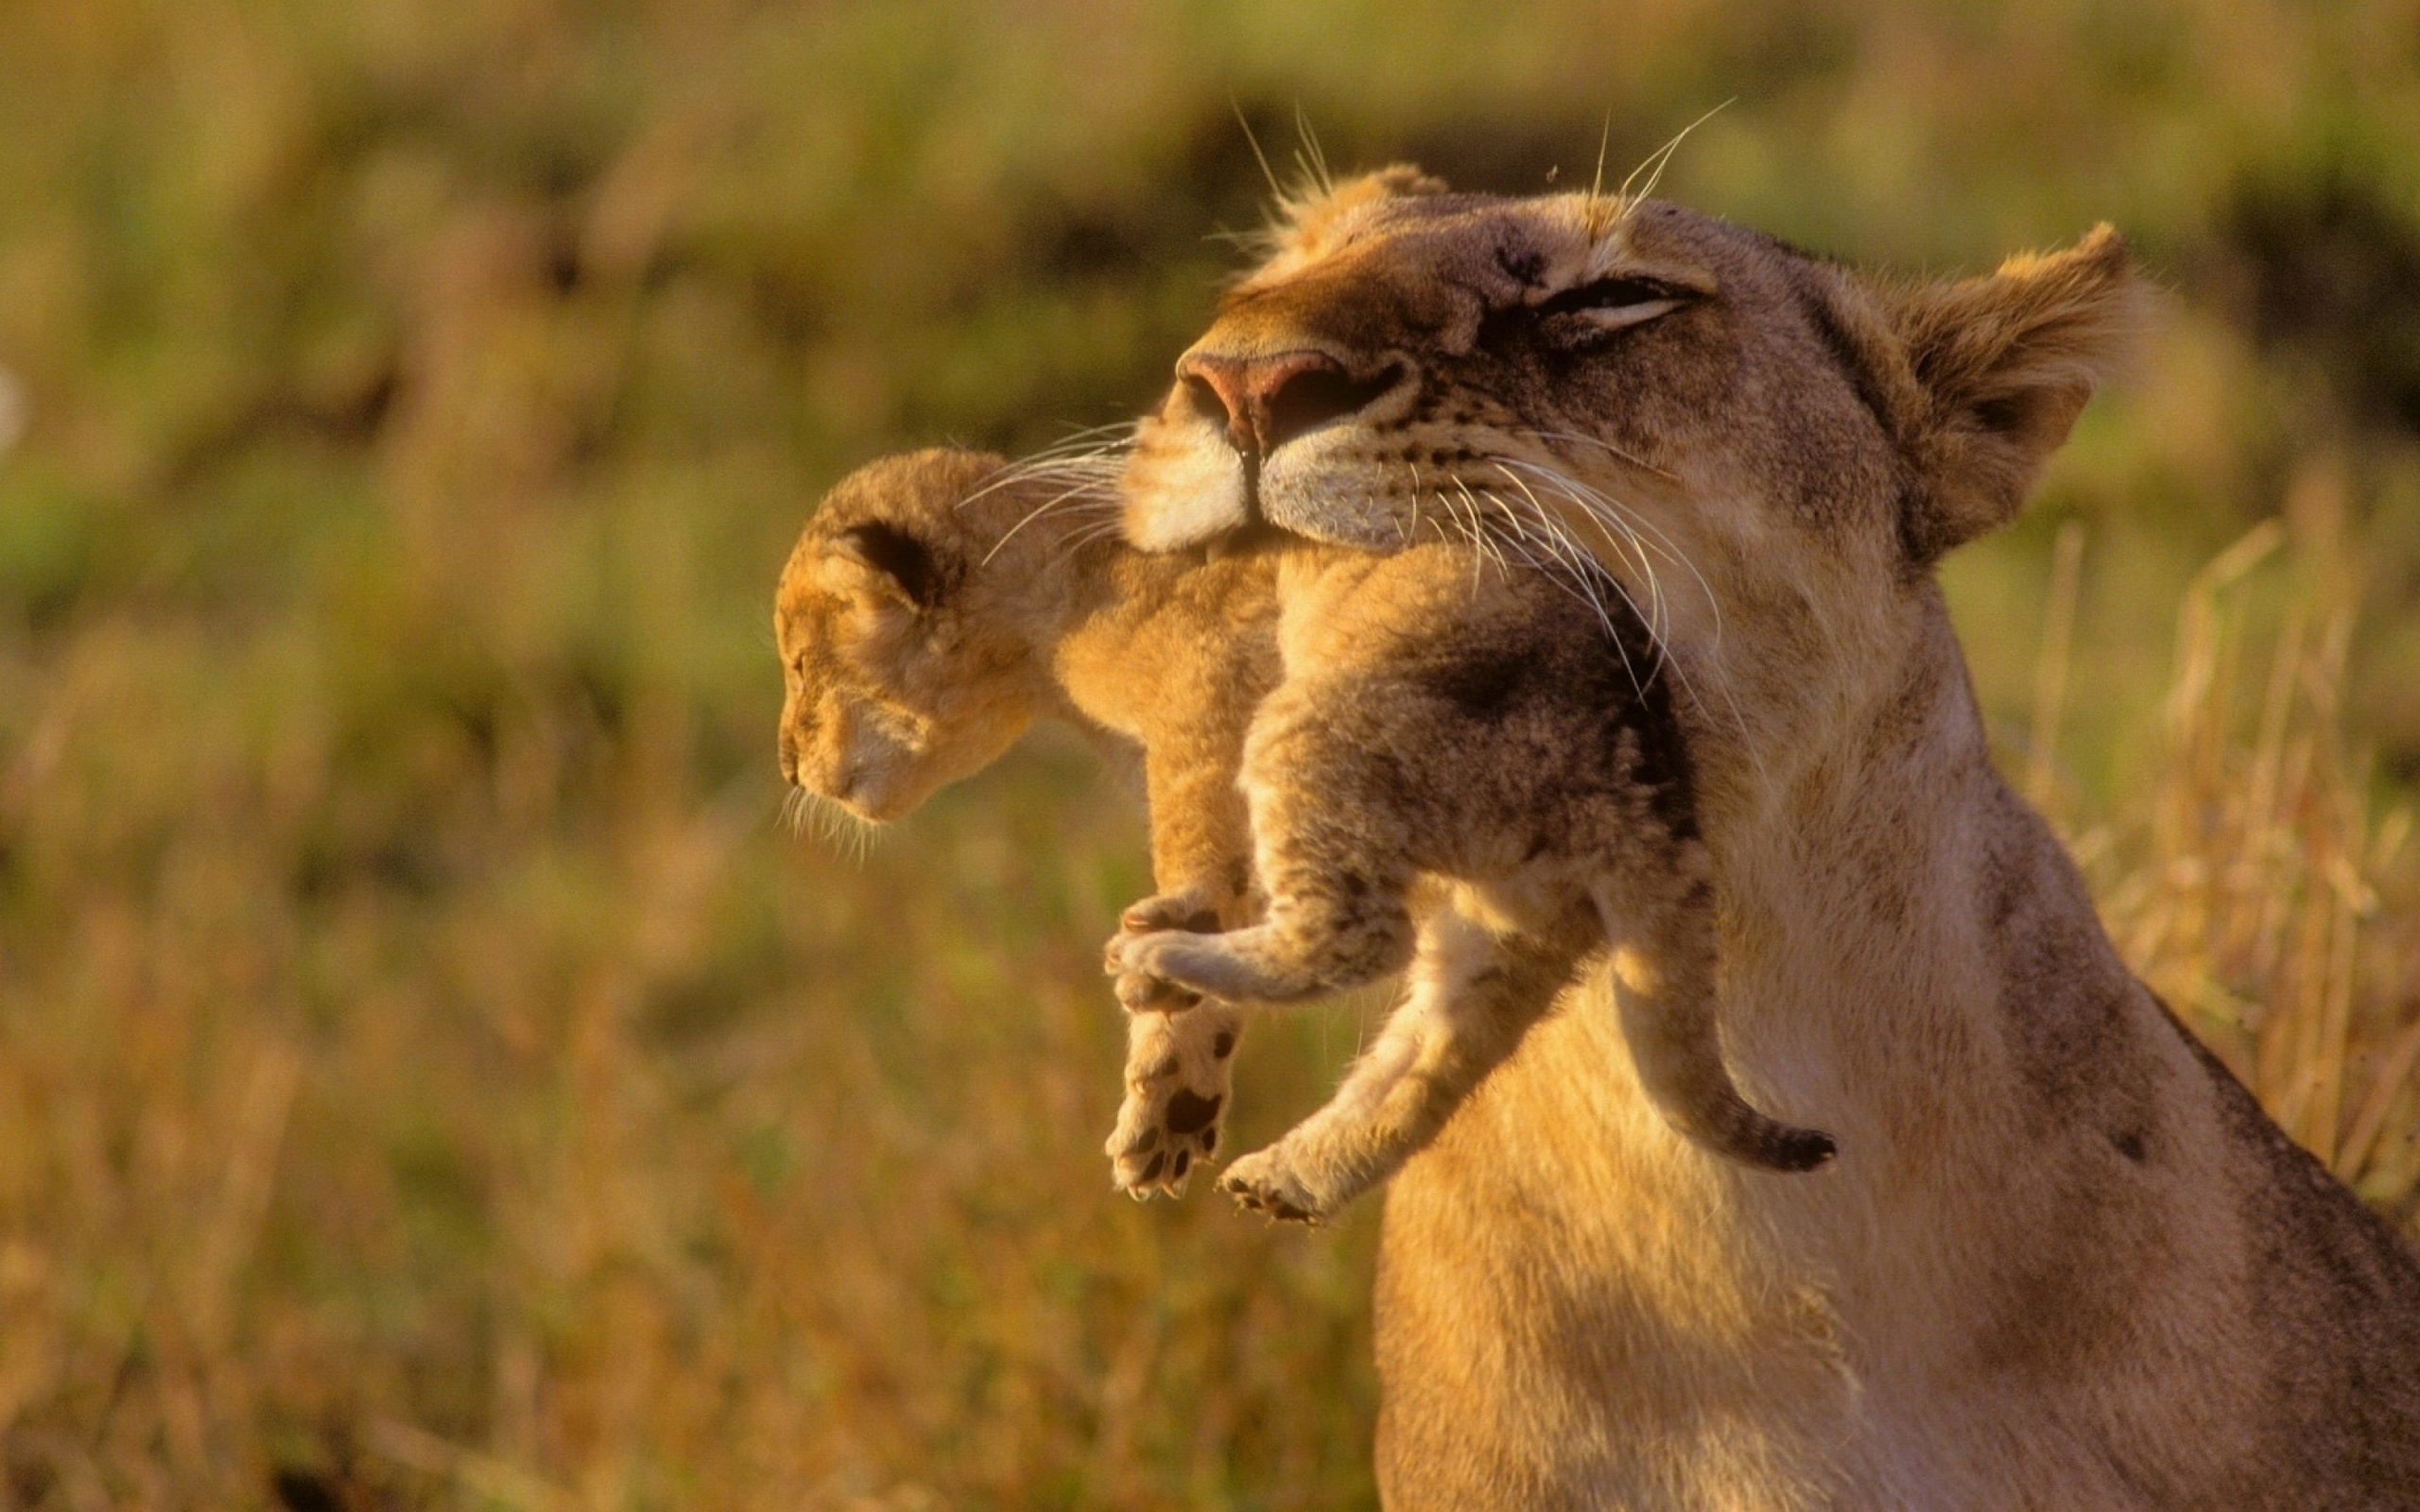
M 1137 544 L 1534 494 L 1646 605 L 1730 1064 L 1842 1147 L 1711 1159 L 1607 1077 L 1607 975 L 1568 994 L 1389 1193 L 1396 1512 L 2420 1507 L 2420 1263 L 2127 975 L 1931 573 L 2134 322 L 2108 230 L 1883 283 L 1392 169 L 1290 206 L 1181 358 Z

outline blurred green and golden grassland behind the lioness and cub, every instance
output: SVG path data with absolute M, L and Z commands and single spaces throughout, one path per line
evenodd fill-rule
M 2115 220 L 1951 595 L 2120 943 L 2420 1183 L 2420 5 L 0 5 L 0 1502 L 1370 1507 L 1375 1202 L 1113 1198 L 1140 827 L 777 823 L 847 467 L 1137 414 L 1285 169 Z M 1237 1135 L 1370 1004 L 1263 1026 Z

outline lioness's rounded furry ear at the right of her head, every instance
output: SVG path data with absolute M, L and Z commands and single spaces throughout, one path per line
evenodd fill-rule
M 1888 295 L 1917 404 L 1900 535 L 1919 564 L 2006 525 L 2142 327 L 2132 256 L 2108 225 L 1989 278 Z

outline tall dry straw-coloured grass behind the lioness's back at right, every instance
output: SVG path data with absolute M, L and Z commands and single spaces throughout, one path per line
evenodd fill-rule
M 2420 1207 L 2415 803 L 2381 801 L 2347 745 L 2357 573 L 2340 498 L 2328 498 L 2338 484 L 2311 474 L 2301 486 L 2287 513 L 2301 527 L 2292 549 L 2272 520 L 2195 576 L 2142 798 L 2072 844 L 2134 970 L 2289 1135 L 2410 1224 Z M 2287 554 L 2268 573 L 2284 583 L 2260 583 Z M 2045 656 L 2045 714 L 2062 641 L 2050 636 Z M 2052 723 L 2047 714 L 2038 728 Z M 2057 808 L 2045 767 L 2028 779 L 2035 801 Z

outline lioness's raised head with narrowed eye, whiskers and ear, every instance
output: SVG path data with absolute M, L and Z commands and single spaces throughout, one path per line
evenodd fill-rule
M 1684 663 L 1721 627 L 1769 631 L 1730 660 L 1871 656 L 1876 605 L 2016 513 L 2134 302 L 2108 227 L 1890 285 L 1663 201 L 1387 169 L 1283 208 L 1137 435 L 1125 532 L 1483 535 L 1592 554 Z

